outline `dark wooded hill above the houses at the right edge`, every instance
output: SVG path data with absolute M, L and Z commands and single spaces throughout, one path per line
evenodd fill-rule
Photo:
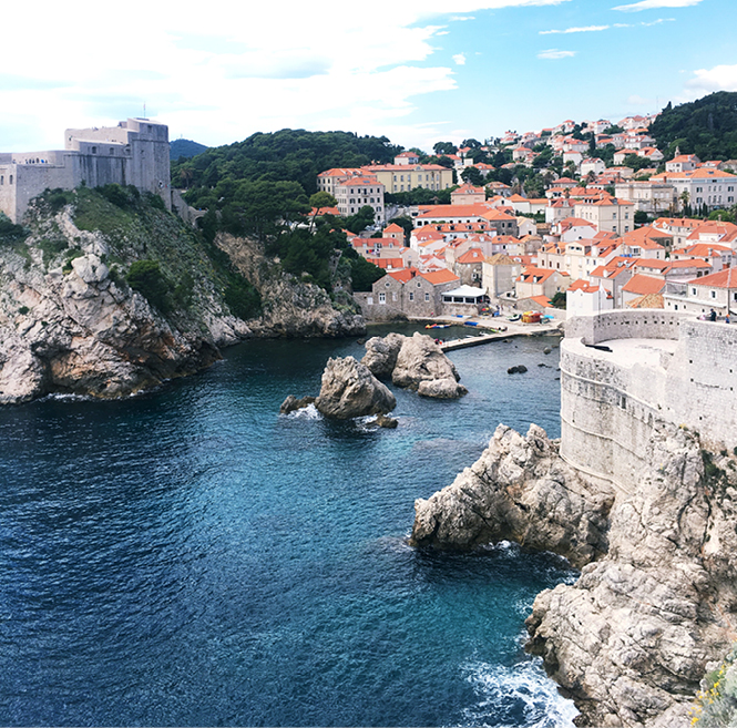
M 718 91 L 678 106 L 671 103 L 651 126 L 659 150 L 707 160 L 737 158 L 737 92 Z

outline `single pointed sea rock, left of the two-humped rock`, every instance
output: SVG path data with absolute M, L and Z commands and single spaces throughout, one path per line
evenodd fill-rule
M 395 396 L 354 357 L 328 359 L 315 407 L 328 418 L 348 420 L 386 414 L 397 406 Z

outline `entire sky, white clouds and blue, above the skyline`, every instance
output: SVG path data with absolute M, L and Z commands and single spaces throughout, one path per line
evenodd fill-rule
M 622 4 L 620 4 L 622 2 Z M 737 91 L 735 0 L 91 0 L 3 8 L 0 151 L 147 116 L 430 151 Z

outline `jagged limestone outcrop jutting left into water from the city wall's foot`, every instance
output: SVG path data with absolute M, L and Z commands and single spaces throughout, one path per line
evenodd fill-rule
M 414 502 L 410 541 L 441 548 L 518 541 L 581 566 L 606 552 L 612 500 L 560 460 L 542 428 L 532 424 L 522 437 L 500 424 L 452 485 Z

